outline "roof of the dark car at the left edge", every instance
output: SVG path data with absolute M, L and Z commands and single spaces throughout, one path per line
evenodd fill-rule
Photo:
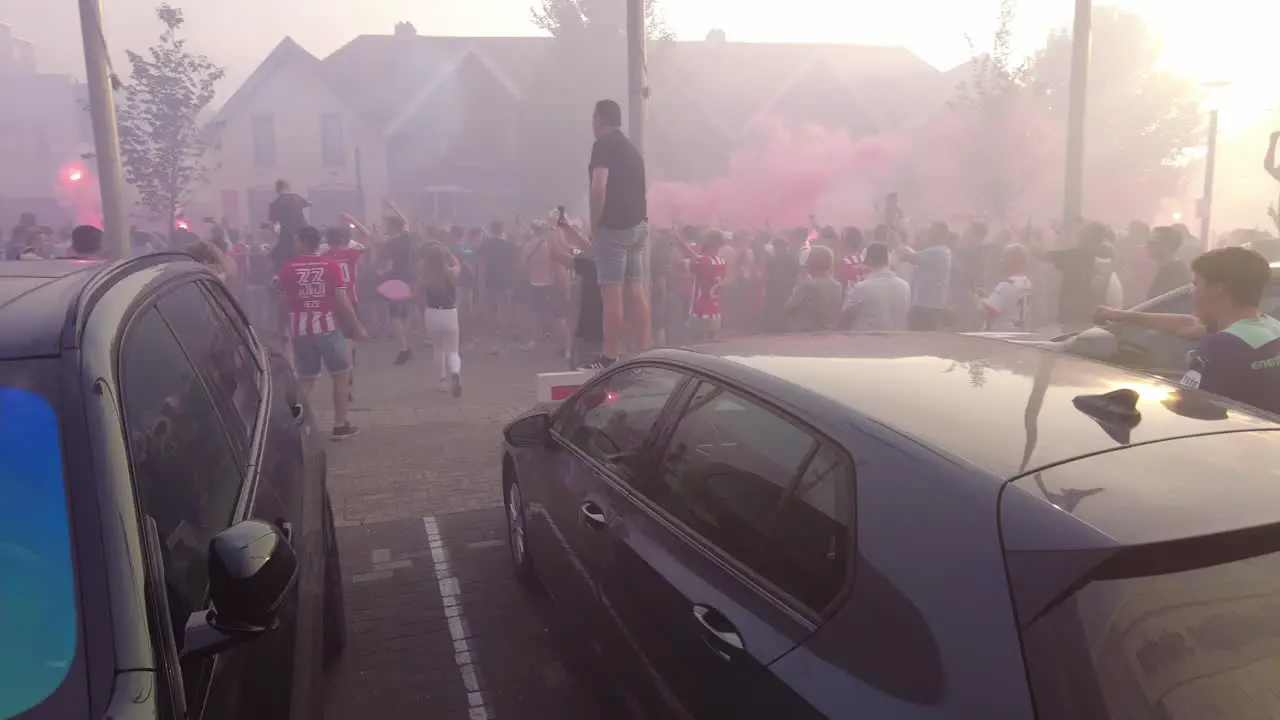
M 0 360 L 55 356 L 67 328 L 78 322 L 78 305 L 96 281 L 110 282 L 137 268 L 193 260 L 160 252 L 131 260 L 0 261 Z

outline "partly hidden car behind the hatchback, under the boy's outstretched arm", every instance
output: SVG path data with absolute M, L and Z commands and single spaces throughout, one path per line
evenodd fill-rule
M 1192 286 L 1183 286 L 1132 307 L 1139 313 L 1194 315 Z M 1262 296 L 1262 311 L 1280 318 L 1280 263 L 1271 264 L 1271 284 Z M 1196 348 L 1189 340 L 1121 323 L 1082 332 L 1038 336 L 1034 333 L 974 333 L 984 337 L 1034 345 L 1046 350 L 1102 360 L 1167 379 L 1181 378 L 1188 355 Z

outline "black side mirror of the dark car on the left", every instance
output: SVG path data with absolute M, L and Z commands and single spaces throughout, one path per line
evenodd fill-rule
M 284 530 L 244 520 L 209 542 L 212 607 L 187 619 L 182 657 L 207 657 L 255 641 L 279 626 L 280 607 L 298 577 Z

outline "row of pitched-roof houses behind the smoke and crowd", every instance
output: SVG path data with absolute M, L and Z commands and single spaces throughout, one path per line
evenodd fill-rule
M 285 37 L 214 119 L 216 169 L 201 201 L 256 227 L 283 177 L 310 197 L 317 224 L 344 211 L 375 218 L 388 200 L 442 223 L 527 208 L 538 197 L 526 178 L 539 172 L 527 165 L 554 160 L 520 147 L 527 140 L 517 126 L 554 42 L 424 36 L 401 23 L 320 59 Z M 902 47 L 731 42 L 723 33 L 655 44 L 650 176 L 716 177 L 765 117 L 855 136 L 902 127 L 943 102 L 957 78 Z M 589 114 L 582 108 L 584 152 Z

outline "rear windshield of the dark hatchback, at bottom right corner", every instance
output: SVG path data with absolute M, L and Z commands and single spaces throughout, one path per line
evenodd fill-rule
M 1280 555 L 1091 583 L 1023 651 L 1041 720 L 1280 717 Z

